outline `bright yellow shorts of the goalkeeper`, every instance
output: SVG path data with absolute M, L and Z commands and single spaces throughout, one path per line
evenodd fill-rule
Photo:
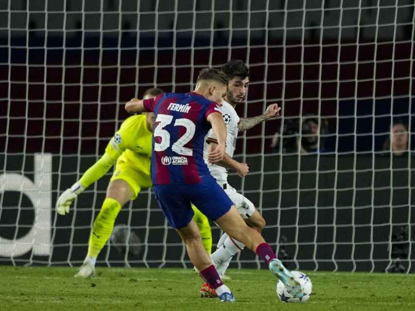
M 137 170 L 137 165 L 134 165 L 133 161 L 123 155 L 118 158 L 110 181 L 117 179 L 122 179 L 128 184 L 133 193 L 132 200 L 137 198 L 141 188 L 152 187 L 151 177 L 148 177 L 140 170 Z

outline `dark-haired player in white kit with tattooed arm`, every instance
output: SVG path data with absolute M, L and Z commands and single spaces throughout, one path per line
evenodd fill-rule
M 245 222 L 260 233 L 265 226 L 265 220 L 249 199 L 238 193 L 235 188 L 228 184 L 226 168 L 234 169 L 241 177 L 244 177 L 248 173 L 249 168 L 246 163 L 239 163 L 232 159 L 238 131 L 245 131 L 262 121 L 278 116 L 281 108 L 277 104 L 271 104 L 261 116 L 240 119 L 234 108 L 237 104 L 242 103 L 245 98 L 249 86 L 249 69 L 241 60 L 230 60 L 222 66 L 221 70 L 225 72 L 229 80 L 222 106 L 222 114 L 227 128 L 226 153 L 224 160 L 221 162 L 215 164 L 208 163 L 207 150 L 215 147 L 217 144 L 216 137 L 210 130 L 205 142 L 205 162 L 210 173 L 225 190 Z M 244 246 L 243 243 L 228 237 L 226 233 L 220 238 L 217 244 L 217 250 L 210 257 L 221 278 L 225 279 L 225 271 L 232 257 L 240 252 Z M 210 288 L 206 282 L 202 285 L 200 294 L 201 297 L 216 296 L 214 289 Z

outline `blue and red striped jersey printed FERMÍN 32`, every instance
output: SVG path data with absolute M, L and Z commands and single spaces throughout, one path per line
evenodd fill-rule
M 219 104 L 194 92 L 164 93 L 144 100 L 154 111 L 151 177 L 153 185 L 196 184 L 210 175 L 203 160 L 203 145 L 211 128 L 207 116 L 222 114 Z M 213 177 L 212 177 L 213 178 Z

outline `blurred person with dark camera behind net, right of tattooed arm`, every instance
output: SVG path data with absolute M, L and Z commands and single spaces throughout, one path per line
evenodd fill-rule
M 319 130 L 320 134 L 325 134 L 327 128 L 327 121 L 324 121 L 319 126 L 319 119 L 306 118 L 301 125 L 301 135 L 298 135 L 299 121 L 289 119 L 284 121 L 284 128 L 282 129 L 282 139 L 280 134 L 275 133 L 271 147 L 274 152 L 279 152 L 282 140 L 282 153 L 300 153 L 302 155 L 308 153 L 315 153 L 317 151 L 324 152 L 324 138 L 320 137 L 319 146 Z

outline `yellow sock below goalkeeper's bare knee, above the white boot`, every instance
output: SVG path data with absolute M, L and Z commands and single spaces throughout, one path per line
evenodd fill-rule
M 121 204 L 112 198 L 104 200 L 101 211 L 94 221 L 88 242 L 88 254 L 86 256 L 97 258 L 108 241 L 114 228 L 115 219 L 121 210 Z

